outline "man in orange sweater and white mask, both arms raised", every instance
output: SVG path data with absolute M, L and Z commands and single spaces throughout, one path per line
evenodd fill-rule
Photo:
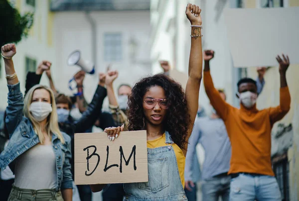
M 205 54 L 213 56 L 213 51 Z M 271 164 L 271 129 L 290 110 L 291 96 L 286 72 L 288 56 L 277 56 L 281 78 L 280 105 L 263 110 L 256 108 L 257 83 L 241 79 L 237 97 L 240 108 L 225 102 L 214 88 L 209 62 L 205 62 L 203 81 L 205 91 L 219 117 L 224 121 L 230 138 L 232 155 L 228 174 L 231 176 L 230 201 L 281 201 L 281 193 Z M 258 183 L 257 183 L 258 181 Z

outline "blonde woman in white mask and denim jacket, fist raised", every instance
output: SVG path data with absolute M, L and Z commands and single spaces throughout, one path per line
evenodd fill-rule
M 5 124 L 10 140 L 0 155 L 0 168 L 9 165 L 15 174 L 8 201 L 71 201 L 71 139 L 58 128 L 52 90 L 36 85 L 23 101 L 12 62 L 15 53 L 14 44 L 1 47 L 8 86 Z

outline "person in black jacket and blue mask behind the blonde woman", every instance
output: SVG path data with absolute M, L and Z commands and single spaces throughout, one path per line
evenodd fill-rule
M 47 61 L 48 62 L 48 61 Z M 50 62 L 48 62 L 50 63 Z M 40 77 L 44 71 L 46 71 L 49 66 L 40 65 L 41 71 L 38 73 L 29 73 L 27 74 L 26 87 L 32 87 L 39 83 Z M 29 76 L 28 76 L 29 75 Z M 31 78 L 31 79 L 28 79 Z M 75 82 L 77 83 L 78 96 L 76 100 L 83 100 L 83 80 L 85 78 L 85 73 L 83 71 L 78 71 L 75 75 Z M 98 116 L 101 115 L 102 105 L 105 97 L 107 96 L 107 90 L 104 88 L 104 81 L 100 77 L 100 81 L 97 87 L 97 90 L 94 94 L 94 97 L 91 103 L 87 106 L 85 111 L 78 116 L 78 118 L 73 118 L 74 113 L 72 113 L 72 101 L 68 96 L 64 94 L 57 94 L 55 102 L 57 105 L 57 114 L 58 114 L 58 125 L 61 131 L 67 133 L 71 137 L 71 152 L 74 156 L 74 133 L 83 133 L 86 132 L 89 128 L 93 126 Z M 28 89 L 26 88 L 26 91 Z M 81 92 L 81 93 L 80 93 Z M 71 163 L 71 172 L 74 176 L 74 157 L 70 159 Z M 91 200 L 91 190 L 88 185 L 78 186 L 79 194 L 81 201 Z M 77 189 L 75 188 L 74 191 Z M 76 196 L 76 194 L 74 194 Z M 78 198 L 73 198 L 73 200 L 78 201 Z

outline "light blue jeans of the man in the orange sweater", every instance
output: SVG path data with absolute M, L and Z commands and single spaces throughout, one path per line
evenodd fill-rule
M 281 201 L 275 177 L 241 173 L 231 180 L 230 201 Z

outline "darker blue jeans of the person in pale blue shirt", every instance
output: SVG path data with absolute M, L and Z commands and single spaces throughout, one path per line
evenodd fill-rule
M 229 201 L 230 176 L 215 176 L 211 179 L 204 180 L 201 186 L 203 201 Z

